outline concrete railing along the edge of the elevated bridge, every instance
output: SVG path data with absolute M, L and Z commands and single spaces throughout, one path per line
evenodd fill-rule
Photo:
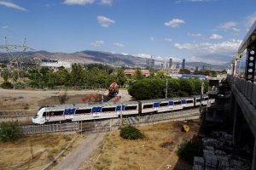
M 246 81 L 240 77 L 228 76 L 227 81 L 233 83 L 236 88 L 243 94 L 248 101 L 256 107 L 256 84 L 250 81 Z

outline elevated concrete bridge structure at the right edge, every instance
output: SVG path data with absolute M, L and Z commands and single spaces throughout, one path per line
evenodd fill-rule
M 247 52 L 245 76 L 237 75 L 239 60 Z M 254 82 L 256 59 L 256 21 L 241 42 L 237 56 L 230 65 L 227 82 L 230 85 L 231 108 L 234 116 L 233 144 L 241 146 L 243 141 L 253 148 L 252 169 L 256 170 L 256 83 Z M 247 134 L 247 135 L 245 135 Z

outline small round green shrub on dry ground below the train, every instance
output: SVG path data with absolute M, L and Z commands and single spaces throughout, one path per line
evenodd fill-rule
M 130 139 L 130 140 L 145 138 L 145 135 L 141 133 L 140 130 L 138 130 L 136 127 L 132 127 L 131 125 L 126 127 L 121 127 L 120 136 L 123 139 Z

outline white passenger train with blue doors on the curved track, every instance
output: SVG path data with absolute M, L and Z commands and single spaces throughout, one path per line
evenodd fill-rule
M 202 101 L 201 101 L 202 100 Z M 44 124 L 47 122 L 65 122 L 65 121 L 85 121 L 105 118 L 131 116 L 138 114 L 147 114 L 150 112 L 166 112 L 182 110 L 183 108 L 207 105 L 214 103 L 214 99 L 208 99 L 204 96 L 194 96 L 189 98 L 172 99 L 148 99 L 138 101 L 128 101 L 121 103 L 99 103 L 96 105 L 73 104 L 73 105 L 54 105 L 43 106 L 38 110 L 36 116 L 32 117 L 32 122 Z

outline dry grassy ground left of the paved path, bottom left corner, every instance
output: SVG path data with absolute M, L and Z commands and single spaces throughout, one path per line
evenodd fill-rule
M 0 169 L 43 169 L 76 135 L 76 133 L 44 134 L 19 139 L 15 143 L 0 143 Z M 65 155 L 76 148 L 82 139 L 84 135 L 79 135 Z

